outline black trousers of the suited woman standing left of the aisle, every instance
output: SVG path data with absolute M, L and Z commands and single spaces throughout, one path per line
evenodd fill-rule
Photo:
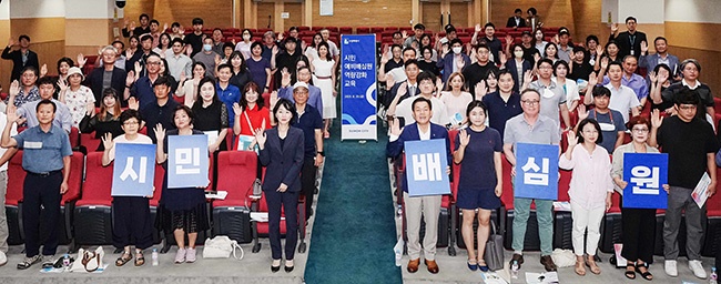
M 285 260 L 293 260 L 298 243 L 298 192 L 265 191 L 268 207 L 268 237 L 273 260 L 281 260 L 281 206 L 285 212 Z

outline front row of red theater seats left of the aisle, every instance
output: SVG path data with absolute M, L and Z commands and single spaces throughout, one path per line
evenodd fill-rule
M 57 224 L 62 232 L 60 243 L 69 244 L 71 251 L 83 245 L 112 244 L 113 210 L 110 181 L 113 178 L 113 166 L 112 164 L 102 166 L 102 152 L 90 152 L 85 155 L 83 152 L 74 151 L 72 155 L 69 191 L 61 201 L 62 222 Z M 238 243 L 253 242 L 253 252 L 258 252 L 261 248 L 258 237 L 268 234 L 268 225 L 251 220 L 251 212 L 267 212 L 264 195 L 252 196 L 252 185 L 257 175 L 256 154 L 252 151 L 221 151 L 217 155 L 211 155 L 210 169 L 213 170 L 210 171 L 211 185 L 207 190 L 226 191 L 227 196 L 224 200 L 207 201 L 211 230 L 200 232 L 197 244 L 202 244 L 207 236 L 227 235 Z M 153 181 L 155 192 L 150 200 L 153 219 L 158 213 L 164 174 L 165 170 L 156 165 Z M 24 176 L 22 151 L 18 151 L 9 162 L 6 195 L 10 245 L 24 242 L 21 214 Z M 305 221 L 304 202 L 302 197 L 298 204 L 298 220 L 302 220 L 299 222 Z M 284 222 L 282 221 L 281 224 L 282 234 L 285 234 Z M 301 253 L 306 248 L 305 226 L 302 224 L 298 246 Z M 48 225 L 52 224 L 41 222 L 41 230 L 47 231 Z M 163 233 L 165 235 L 154 230 L 153 239 L 155 244 L 164 239 L 161 252 L 166 252 L 175 242 L 172 232 Z

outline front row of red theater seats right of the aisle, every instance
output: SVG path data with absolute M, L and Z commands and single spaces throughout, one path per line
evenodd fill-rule
M 455 139 L 458 131 L 451 130 L 449 136 L 451 139 L 451 145 L 455 143 Z M 405 158 L 402 156 L 397 159 L 394 166 L 394 174 L 396 175 L 396 185 L 398 187 L 396 199 L 399 206 L 404 206 L 403 201 L 403 187 L 402 182 L 405 169 Z M 456 245 L 460 248 L 466 248 L 464 243 L 463 235 L 460 234 L 460 210 L 456 207 L 458 184 L 455 181 L 458 181 L 460 178 L 460 165 L 455 164 L 451 168 L 453 180 L 450 184 L 451 194 L 444 195 L 441 201 L 441 211 L 439 214 L 438 222 L 438 247 L 448 246 L 448 254 L 454 256 L 456 255 Z M 495 222 L 496 226 L 500 234 L 504 235 L 504 246 L 507 250 L 512 250 L 512 222 L 514 222 L 514 189 L 511 185 L 511 165 L 506 160 L 502 159 L 502 183 L 504 183 L 504 194 L 501 195 L 501 207 L 492 211 L 491 222 Z M 717 170 L 718 174 L 721 174 L 721 169 Z M 559 202 L 569 202 L 570 197 L 568 195 L 568 190 L 571 181 L 571 171 L 559 171 L 560 179 L 558 182 L 558 201 Z M 718 185 L 717 189 L 721 189 L 721 185 Z M 606 213 L 603 221 L 601 223 L 600 232 L 601 240 L 599 244 L 599 250 L 603 253 L 612 253 L 613 244 L 621 242 L 622 227 L 621 227 L 621 209 L 620 209 L 620 195 L 615 193 L 612 195 L 613 205 Z M 404 207 L 405 210 L 405 207 Z M 526 231 L 526 237 L 524 243 L 525 251 L 539 251 L 540 250 L 540 239 L 538 236 L 538 222 L 536 220 L 536 206 L 531 204 L 531 214 L 528 219 L 528 225 Z M 705 235 L 704 235 L 704 245 L 702 250 L 702 255 L 713 256 L 715 250 L 721 244 L 721 202 L 717 202 L 714 199 L 707 202 L 708 210 L 708 221 L 705 223 Z M 656 240 L 654 242 L 654 254 L 663 255 L 663 220 L 664 220 L 664 210 L 657 210 L 656 219 Z M 475 221 L 474 226 L 477 226 L 477 221 Z M 683 224 L 681 227 L 684 227 Z M 404 239 L 406 236 L 406 220 L 405 214 L 403 216 L 403 232 Z M 475 230 L 474 230 L 475 232 Z M 572 232 L 572 217 L 571 212 L 568 211 L 555 211 L 554 212 L 554 248 L 563 248 L 572 250 L 571 241 Z M 423 237 L 423 229 L 422 229 Z M 686 255 L 686 231 L 680 230 L 679 236 L 679 248 L 680 254 Z

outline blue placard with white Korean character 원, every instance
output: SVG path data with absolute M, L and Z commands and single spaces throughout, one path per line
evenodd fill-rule
M 663 184 L 669 178 L 669 154 L 624 153 L 623 207 L 666 209 L 668 194 Z

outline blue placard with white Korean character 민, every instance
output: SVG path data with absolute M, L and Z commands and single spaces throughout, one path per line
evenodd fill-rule
M 167 187 L 207 186 L 207 135 L 167 136 Z

